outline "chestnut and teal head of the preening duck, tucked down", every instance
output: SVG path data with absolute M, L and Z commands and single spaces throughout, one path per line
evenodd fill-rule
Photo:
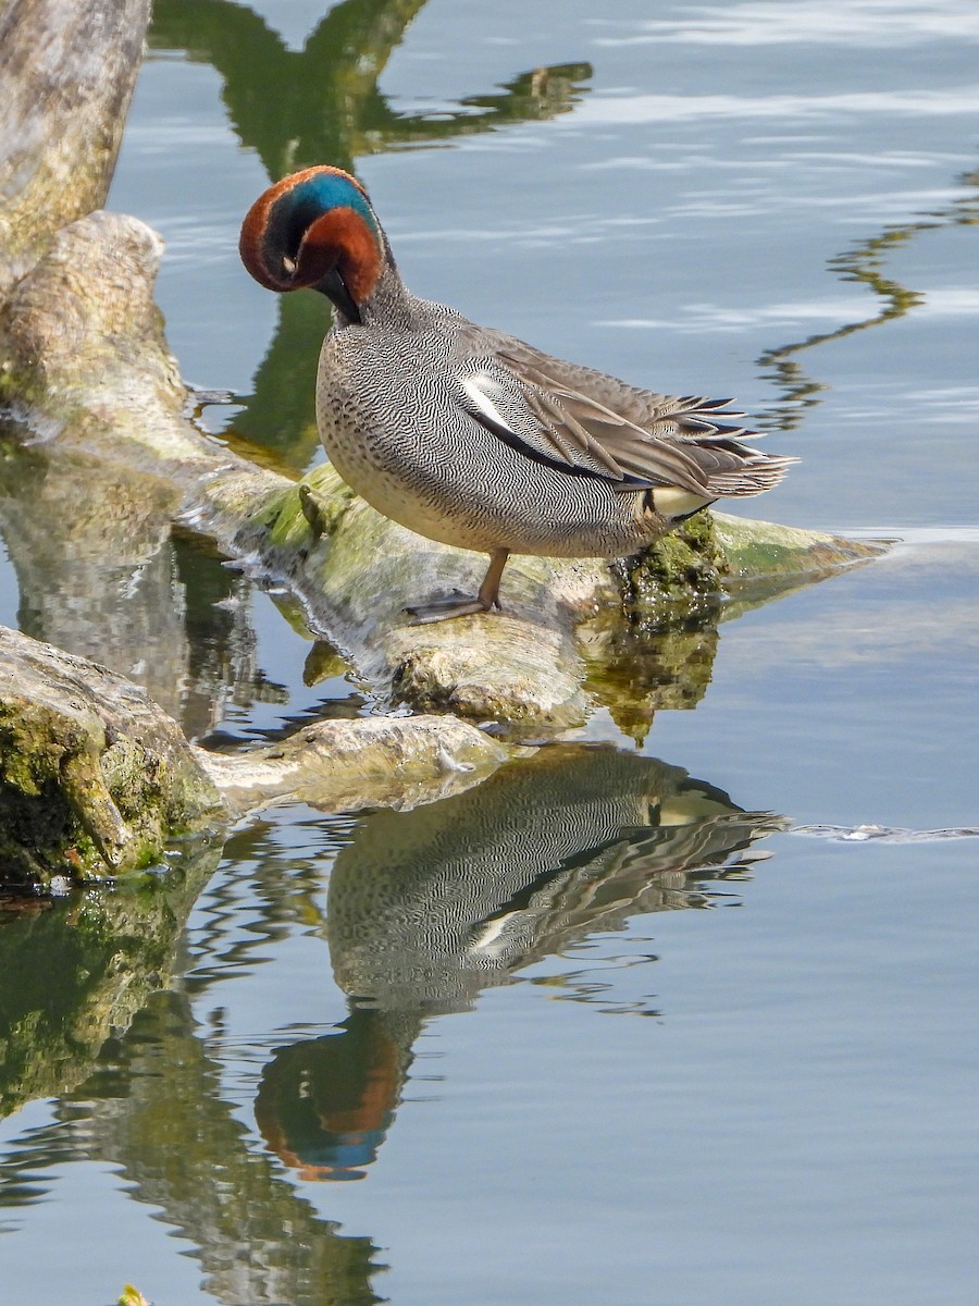
M 338 167 L 308 167 L 260 195 L 241 225 L 241 261 L 269 290 L 309 286 L 351 323 L 369 299 L 386 248 L 367 191 Z

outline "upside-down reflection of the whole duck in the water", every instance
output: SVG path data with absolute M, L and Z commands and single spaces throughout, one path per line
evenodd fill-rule
M 462 794 L 359 821 L 330 875 L 326 934 L 350 999 L 339 1032 L 278 1049 L 256 1118 L 307 1179 L 377 1157 L 426 1020 L 636 913 L 704 906 L 785 827 L 679 767 L 551 747 Z

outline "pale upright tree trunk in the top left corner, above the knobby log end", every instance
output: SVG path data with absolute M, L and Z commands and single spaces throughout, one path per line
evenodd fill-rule
M 102 205 L 150 0 L 0 7 L 0 300 L 59 227 Z

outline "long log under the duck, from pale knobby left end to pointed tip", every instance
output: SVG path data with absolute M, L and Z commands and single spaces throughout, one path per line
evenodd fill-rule
M 625 563 L 514 558 L 503 614 L 412 627 L 405 603 L 478 584 L 484 559 L 380 517 L 329 466 L 296 485 L 196 431 L 153 303 L 159 253 L 133 218 L 94 213 L 59 232 L 0 315 L 0 397 L 47 436 L 52 460 L 70 452 L 77 470 L 90 458 L 94 479 L 144 477 L 159 512 L 287 584 L 381 700 L 565 729 L 603 701 L 603 644 L 586 626 L 598 615 L 623 631 L 627 609 L 651 611 L 663 628 L 649 637 L 663 640 L 671 620 L 717 606 L 728 579 L 777 592 L 877 551 L 761 522 L 715 530 L 705 513 Z M 683 657 L 664 661 L 683 679 Z M 696 701 L 704 673 L 701 662 L 694 684 L 663 701 Z

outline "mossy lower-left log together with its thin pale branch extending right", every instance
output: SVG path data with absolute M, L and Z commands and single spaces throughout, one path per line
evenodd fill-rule
M 158 862 L 277 799 L 409 807 L 482 778 L 506 750 L 450 717 L 322 722 L 249 754 L 192 747 L 144 690 L 0 627 L 0 887 Z

